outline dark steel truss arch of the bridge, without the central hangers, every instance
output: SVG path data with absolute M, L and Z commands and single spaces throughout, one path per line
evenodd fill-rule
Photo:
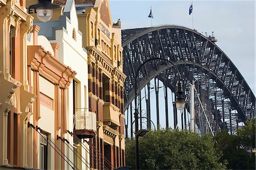
M 208 108 L 208 113 L 216 112 L 216 115 L 219 115 L 212 116 L 215 124 L 223 125 L 224 118 L 229 118 L 230 122 L 245 122 L 246 119 L 254 118 L 253 92 L 228 56 L 214 44 L 214 40 L 213 37 L 207 38 L 196 30 L 180 26 L 123 30 L 123 72 L 127 75 L 125 110 L 134 99 L 134 75 L 137 68 L 143 61 L 159 57 L 175 63 L 181 73 L 186 94 L 189 93 L 189 82 L 197 80 L 200 98 L 211 107 Z M 139 72 L 138 90 L 154 77 L 175 92 L 175 69 L 172 70 L 171 65 L 167 63 L 155 60 L 146 64 Z M 199 105 L 198 101 L 196 104 Z M 231 110 L 237 112 L 231 114 Z M 236 127 L 230 128 L 232 131 L 232 128 Z

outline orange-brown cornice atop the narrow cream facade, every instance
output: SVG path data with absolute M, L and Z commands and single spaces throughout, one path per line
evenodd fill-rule
M 28 65 L 60 88 L 68 88 L 76 72 L 62 64 L 40 45 L 28 45 Z

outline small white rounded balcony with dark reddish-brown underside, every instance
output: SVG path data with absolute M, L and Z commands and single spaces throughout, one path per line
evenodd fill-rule
M 86 109 L 76 109 L 75 134 L 81 138 L 93 138 L 97 131 L 96 113 Z

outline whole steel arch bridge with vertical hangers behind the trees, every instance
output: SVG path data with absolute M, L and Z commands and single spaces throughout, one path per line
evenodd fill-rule
M 195 118 L 197 130 L 201 134 L 209 132 L 209 126 L 214 134 L 226 129 L 235 133 L 238 123 L 246 122 L 255 117 L 255 96 L 242 74 L 228 56 L 215 44 L 213 36 L 204 36 L 196 30 L 180 26 L 160 26 L 150 28 L 135 28 L 122 31 L 123 72 L 127 75 L 125 82 L 125 115 L 126 137 L 134 132 L 135 72 L 150 58 L 163 58 L 176 65 L 181 74 L 181 82 L 187 100 L 189 100 L 189 84 L 195 82 L 196 96 Z M 144 112 L 140 109 L 140 123 L 147 128 L 153 128 L 152 115 L 156 115 L 158 128 L 160 117 L 165 118 L 165 126 L 170 127 L 169 117 L 172 114 L 174 127 L 178 123 L 175 105 L 170 110 L 172 95 L 167 90 L 176 92 L 177 72 L 173 65 L 161 60 L 152 60 L 139 69 L 137 77 L 138 94 L 144 89 L 146 96 L 139 95 L 139 104 L 146 97 Z M 163 86 L 159 86 L 159 81 Z M 152 82 L 155 82 L 152 85 Z M 162 98 L 159 98 L 160 88 L 164 88 Z M 155 90 L 152 98 L 151 89 Z M 152 103 L 154 101 L 154 103 Z M 164 109 L 159 108 L 159 102 L 164 102 Z M 181 115 L 182 128 L 187 125 L 189 117 L 188 102 Z M 138 106 L 141 108 L 142 106 Z M 152 111 L 156 107 L 156 111 Z M 164 110 L 164 111 L 163 111 Z M 187 114 L 186 114 L 187 111 Z M 206 114 L 203 114 L 203 111 Z M 144 113 L 144 115 L 142 115 Z M 207 124 L 207 116 L 209 123 Z M 187 120 L 186 120 L 187 119 Z M 141 126 L 142 127 L 142 126 Z M 163 126 L 162 126 L 163 127 Z

